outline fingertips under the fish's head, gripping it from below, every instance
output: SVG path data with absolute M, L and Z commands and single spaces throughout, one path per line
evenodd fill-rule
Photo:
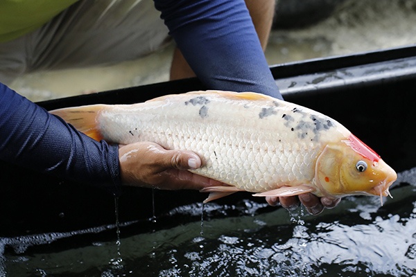
M 341 201 L 340 198 L 331 199 L 328 197 L 317 197 L 312 193 L 305 193 L 303 195 L 291 197 L 266 197 L 266 202 L 270 206 L 281 204 L 286 210 L 291 211 L 297 208 L 302 203 L 308 213 L 311 215 L 318 215 L 324 211 L 324 208 L 333 208 Z

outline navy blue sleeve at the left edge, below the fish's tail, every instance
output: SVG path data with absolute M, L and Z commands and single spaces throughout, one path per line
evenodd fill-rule
M 0 159 L 96 186 L 121 183 L 118 145 L 90 139 L 1 83 Z

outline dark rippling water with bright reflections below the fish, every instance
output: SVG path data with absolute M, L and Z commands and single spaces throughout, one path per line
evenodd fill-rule
M 79 246 L 53 249 L 58 240 L 114 226 L 3 238 L 0 270 L 8 276 L 414 276 L 416 168 L 399 174 L 398 184 L 383 207 L 377 197 L 350 197 L 318 217 L 281 208 L 261 212 L 266 204 L 250 200 L 226 208 L 207 204 L 203 234 L 193 220 L 121 238 L 119 246 L 90 235 Z M 214 216 L 230 209 L 243 213 Z M 200 218 L 201 210 L 195 204 L 171 215 Z M 44 244 L 50 247 L 39 249 Z M 111 263 L 117 257 L 119 267 Z

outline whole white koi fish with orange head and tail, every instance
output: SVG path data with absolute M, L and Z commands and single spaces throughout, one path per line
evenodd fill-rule
M 135 105 L 51 111 L 109 143 L 152 141 L 201 157 L 198 175 L 229 186 L 202 191 L 205 202 L 237 191 L 255 196 L 390 195 L 397 179 L 378 154 L 336 120 L 259 93 L 193 91 Z

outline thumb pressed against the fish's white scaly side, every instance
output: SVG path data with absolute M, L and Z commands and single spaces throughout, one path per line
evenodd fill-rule
M 191 151 L 167 150 L 164 163 L 166 167 L 186 170 L 200 168 L 202 162 L 200 157 Z

